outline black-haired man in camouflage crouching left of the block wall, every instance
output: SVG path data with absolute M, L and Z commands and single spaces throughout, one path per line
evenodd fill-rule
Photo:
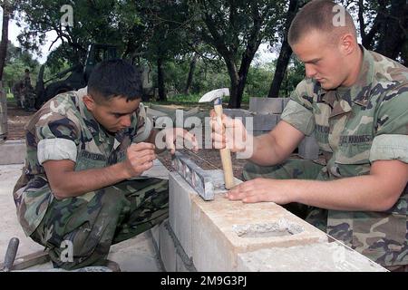
M 168 217 L 168 181 L 142 176 L 156 159 L 157 134 L 140 76 L 122 60 L 99 63 L 87 88 L 34 114 L 14 198 L 25 234 L 50 249 L 54 266 L 105 265 L 112 244 Z M 172 152 L 177 136 L 198 148 L 182 129 L 160 135 Z

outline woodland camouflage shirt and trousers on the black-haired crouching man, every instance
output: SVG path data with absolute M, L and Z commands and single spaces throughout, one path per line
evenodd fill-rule
M 50 247 L 54 264 L 67 269 L 100 263 L 112 243 L 135 236 L 168 213 L 168 184 L 160 179 L 123 181 L 75 198 L 53 198 L 37 157 L 40 140 L 72 140 L 78 171 L 124 160 L 131 143 L 142 141 L 140 137 L 149 136 L 151 130 L 146 128 L 141 104 L 131 116 L 131 127 L 115 136 L 106 133 L 84 106 L 84 90 L 57 95 L 34 114 L 25 128 L 27 156 L 14 189 L 17 216 L 25 234 Z M 58 259 L 65 239 L 81 245 L 74 247 L 71 264 Z

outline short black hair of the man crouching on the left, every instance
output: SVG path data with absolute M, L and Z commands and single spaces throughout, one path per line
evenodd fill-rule
M 88 93 L 104 101 L 115 97 L 126 98 L 127 102 L 141 99 L 141 73 L 121 59 L 103 61 L 92 70 Z

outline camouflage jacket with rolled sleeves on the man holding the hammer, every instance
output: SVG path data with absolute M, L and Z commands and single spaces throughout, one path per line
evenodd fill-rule
M 317 179 L 369 174 L 375 160 L 408 163 L 408 69 L 363 50 L 354 86 L 325 91 L 306 79 L 282 113 L 282 120 L 307 136 L 315 135 L 326 161 Z M 407 265 L 407 214 L 405 188 L 385 212 L 328 210 L 326 231 L 383 266 Z

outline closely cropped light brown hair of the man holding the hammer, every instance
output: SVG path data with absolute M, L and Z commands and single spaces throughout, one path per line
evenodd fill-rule
M 341 7 L 341 11 L 345 12 L 345 25 L 343 26 L 335 26 L 334 24 L 334 20 L 339 14 L 339 10 L 335 9 L 335 6 Z M 329 0 L 313 0 L 303 6 L 290 25 L 287 40 L 292 46 L 314 30 L 330 34 L 333 41 L 345 33 L 354 34 L 355 39 L 357 39 L 353 17 L 345 10 L 345 7 Z

